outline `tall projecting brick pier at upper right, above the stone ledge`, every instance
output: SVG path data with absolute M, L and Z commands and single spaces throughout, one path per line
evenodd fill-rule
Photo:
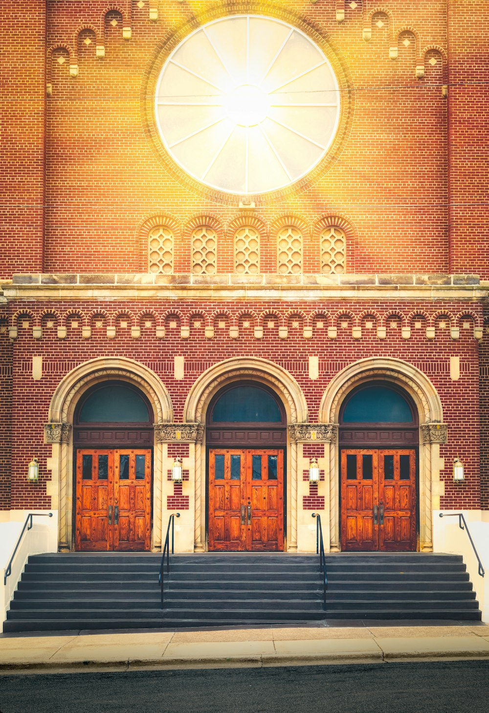
M 489 6 L 448 1 L 450 270 L 489 277 Z

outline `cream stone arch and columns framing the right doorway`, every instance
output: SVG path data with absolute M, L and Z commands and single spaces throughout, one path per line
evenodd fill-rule
M 338 424 L 340 408 L 348 394 L 360 384 L 391 381 L 413 399 L 419 414 L 419 547 L 433 550 L 433 508 L 438 509 L 443 495 L 440 478 L 440 443 L 446 443 L 443 408 L 431 381 L 407 361 L 389 357 L 360 359 L 339 371 L 322 395 L 318 421 Z M 330 443 L 325 470 L 330 481 L 330 550 L 340 550 L 340 445 Z M 328 480 L 328 476 L 326 476 Z

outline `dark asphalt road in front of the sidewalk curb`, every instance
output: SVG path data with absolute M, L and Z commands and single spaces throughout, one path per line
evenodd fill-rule
M 1 713 L 487 713 L 489 661 L 0 677 Z

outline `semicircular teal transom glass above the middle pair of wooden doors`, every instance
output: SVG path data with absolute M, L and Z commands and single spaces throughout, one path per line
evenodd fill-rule
M 216 402 L 213 423 L 281 423 L 278 404 L 268 391 L 257 386 L 236 386 Z

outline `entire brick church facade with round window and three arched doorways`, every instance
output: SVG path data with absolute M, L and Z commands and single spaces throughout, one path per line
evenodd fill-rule
M 331 552 L 488 521 L 469 10 L 6 1 L 0 521 L 157 551 L 179 512 L 184 552 L 315 551 L 312 513 Z

